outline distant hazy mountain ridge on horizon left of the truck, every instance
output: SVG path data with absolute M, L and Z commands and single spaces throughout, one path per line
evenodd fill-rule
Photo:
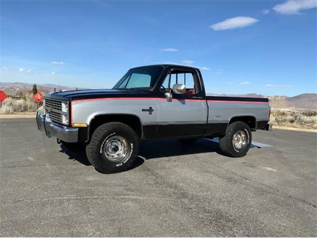
M 2 83 L 0 82 L 0 89 L 13 89 L 13 90 L 18 90 L 18 91 L 26 91 L 26 90 L 31 90 L 33 87 L 33 84 L 31 83 Z M 46 84 L 37 84 L 37 88 L 39 90 L 46 90 L 46 91 L 53 91 L 56 89 L 56 91 L 59 90 L 75 90 L 76 87 L 68 87 L 68 86 L 61 86 L 57 84 L 51 84 L 51 83 L 46 83 Z M 78 89 L 85 89 L 85 88 L 78 88 Z

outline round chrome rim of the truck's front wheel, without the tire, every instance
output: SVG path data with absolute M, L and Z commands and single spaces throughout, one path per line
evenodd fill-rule
M 127 148 L 127 141 L 122 136 L 115 135 L 106 140 L 104 154 L 108 160 L 117 162 L 125 158 Z

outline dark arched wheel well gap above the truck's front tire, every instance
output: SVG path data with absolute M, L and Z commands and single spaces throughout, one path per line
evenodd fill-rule
M 98 126 L 111 121 L 121 122 L 130 126 L 136 132 L 139 139 L 142 138 L 142 125 L 137 116 L 128 114 L 108 114 L 98 115 L 91 120 L 89 124 L 89 139 Z

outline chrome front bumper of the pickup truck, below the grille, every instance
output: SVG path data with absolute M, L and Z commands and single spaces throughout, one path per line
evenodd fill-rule
M 40 112 L 36 115 L 36 121 L 38 129 L 45 132 L 48 137 L 56 137 L 65 142 L 78 142 L 78 128 L 54 123 L 48 114 L 42 116 Z

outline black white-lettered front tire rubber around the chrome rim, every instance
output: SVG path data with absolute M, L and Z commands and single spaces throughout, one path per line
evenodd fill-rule
M 127 142 L 127 153 L 120 161 L 111 161 L 106 158 L 104 146 L 111 136 L 121 136 Z M 132 166 L 139 152 L 139 138 L 135 131 L 121 122 L 108 122 L 100 125 L 94 131 L 89 144 L 86 146 L 86 155 L 95 169 L 103 174 L 126 171 Z

